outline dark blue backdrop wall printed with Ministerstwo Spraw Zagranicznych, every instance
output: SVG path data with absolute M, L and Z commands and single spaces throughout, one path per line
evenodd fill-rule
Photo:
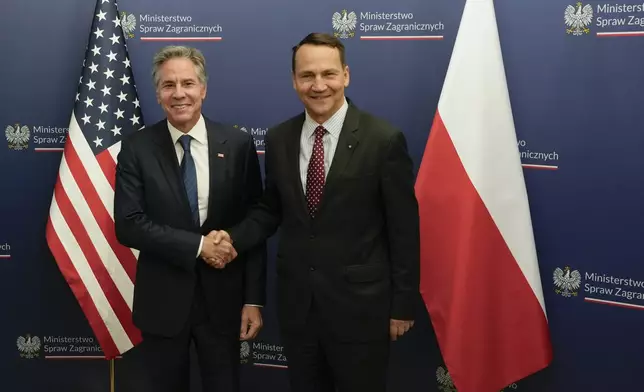
M 555 358 L 506 391 L 641 389 L 644 7 L 625 1 L 495 2 Z M 311 31 L 332 32 L 335 12 L 355 12 L 356 29 L 344 39 L 347 94 L 404 130 L 417 168 L 463 5 L 122 0 L 119 9 L 134 21 L 128 49 L 146 123 L 163 117 L 150 77 L 153 53 L 171 43 L 194 45 L 208 62 L 205 114 L 253 133 L 260 150 L 269 126 L 301 110 L 290 80 L 291 47 Z M 568 6 L 592 12 L 578 34 L 567 32 Z M 94 7 L 91 0 L 4 0 L 0 13 L 0 126 L 30 130 L 25 148 L 0 141 L 4 391 L 110 387 L 108 362 L 92 359 L 101 353 L 44 234 L 61 159 L 58 136 L 69 125 Z M 246 391 L 288 390 L 270 267 L 266 326 L 242 347 Z M 579 272 L 580 288 L 560 290 L 557 268 Z M 34 336 L 39 352 L 20 355 L 17 340 Z M 136 377 L 129 362 L 127 355 L 116 360 L 119 392 Z M 454 390 L 437 380 L 443 365 L 421 304 L 416 327 L 393 345 L 391 362 L 390 391 Z

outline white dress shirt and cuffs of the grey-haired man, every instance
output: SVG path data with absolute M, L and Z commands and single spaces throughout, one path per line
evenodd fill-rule
M 206 130 L 206 122 L 204 121 L 203 115 L 199 116 L 199 120 L 195 126 L 188 131 L 188 133 L 183 133 L 177 128 L 173 127 L 172 124 L 168 121 L 168 129 L 170 130 L 170 136 L 172 137 L 172 142 L 174 143 L 174 150 L 177 153 L 177 160 L 179 165 L 181 165 L 181 160 L 183 159 L 183 147 L 179 143 L 179 138 L 183 135 L 192 136 L 190 141 L 190 154 L 195 161 L 195 168 L 197 169 L 197 202 L 199 205 L 199 225 L 203 225 L 208 217 L 208 195 L 210 194 L 210 167 L 209 165 L 209 156 L 208 156 L 208 131 Z M 204 237 L 201 236 L 201 242 L 199 243 L 199 249 L 197 250 L 197 256 L 201 254 L 201 248 L 203 247 Z M 246 304 L 248 306 L 257 306 L 261 305 Z

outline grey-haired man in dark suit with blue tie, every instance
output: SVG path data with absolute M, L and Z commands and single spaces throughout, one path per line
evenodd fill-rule
M 202 390 L 238 391 L 239 340 L 254 338 L 262 324 L 265 244 L 237 256 L 207 235 L 241 221 L 261 196 L 255 144 L 201 114 L 206 72 L 198 50 L 166 47 L 153 69 L 167 118 L 123 141 L 114 199 L 118 240 L 140 250 L 133 317 L 147 384 L 138 390 L 188 391 L 194 341 Z

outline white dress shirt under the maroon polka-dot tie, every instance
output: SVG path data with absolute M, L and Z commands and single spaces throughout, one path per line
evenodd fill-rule
M 315 128 L 322 125 L 328 133 L 322 138 L 322 145 L 324 146 L 324 178 L 329 174 L 335 149 L 338 147 L 338 140 L 340 138 L 340 131 L 344 125 L 344 118 L 347 115 L 349 103 L 346 98 L 344 104 L 338 109 L 337 112 L 331 116 L 324 124 L 315 122 L 309 113 L 305 111 L 304 124 L 302 125 L 302 134 L 300 136 L 300 178 L 302 180 L 302 188 L 306 194 L 306 173 L 309 168 L 309 160 L 313 154 L 313 144 L 315 143 Z

